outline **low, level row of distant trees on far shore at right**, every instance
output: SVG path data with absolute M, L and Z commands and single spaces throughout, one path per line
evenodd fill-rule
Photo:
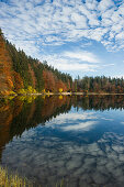
M 105 76 L 97 77 L 83 77 L 78 76 L 75 79 L 75 89 L 77 91 L 84 92 L 111 92 L 111 94 L 123 94 L 124 92 L 124 79 L 111 78 Z

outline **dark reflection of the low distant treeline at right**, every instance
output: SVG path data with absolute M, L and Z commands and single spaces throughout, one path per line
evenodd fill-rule
M 95 95 L 95 96 L 79 96 L 72 99 L 74 107 L 82 108 L 83 110 L 110 110 L 124 109 L 124 96 L 121 95 Z

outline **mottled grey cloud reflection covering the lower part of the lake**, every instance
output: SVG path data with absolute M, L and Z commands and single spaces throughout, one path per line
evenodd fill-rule
M 70 186 L 79 183 L 81 187 L 91 186 L 91 182 L 93 186 L 124 186 L 124 136 L 105 132 L 90 144 L 78 139 L 70 141 L 68 136 L 63 141 L 55 131 L 44 134 L 44 128 L 37 127 L 5 146 L 2 163 L 23 170 L 26 177 L 37 179 L 42 186 L 47 183 L 55 187 L 64 176 L 68 176 Z

